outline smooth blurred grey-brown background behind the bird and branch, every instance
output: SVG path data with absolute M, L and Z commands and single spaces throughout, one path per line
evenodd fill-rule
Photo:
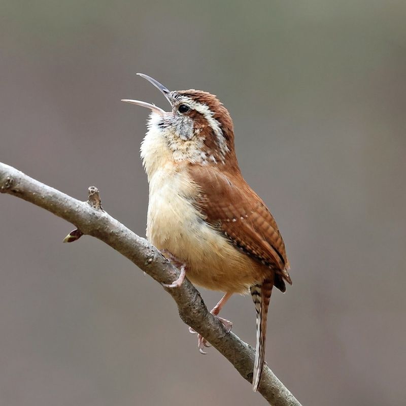
M 245 178 L 284 236 L 266 359 L 305 404 L 406 404 L 406 3 L 10 1 L 0 6 L 0 161 L 145 235 L 148 111 L 217 94 Z M 173 300 L 103 243 L 0 196 L 0 399 L 266 404 Z M 201 290 L 211 308 L 220 292 Z M 250 297 L 224 317 L 253 344 Z

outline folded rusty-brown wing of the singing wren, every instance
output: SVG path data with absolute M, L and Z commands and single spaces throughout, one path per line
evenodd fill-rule
M 197 165 L 190 166 L 190 174 L 200 187 L 198 206 L 207 221 L 219 227 L 234 245 L 274 269 L 291 284 L 285 244 L 276 221 L 242 176 L 220 172 L 213 166 Z M 285 290 L 281 278 L 276 278 L 275 285 Z

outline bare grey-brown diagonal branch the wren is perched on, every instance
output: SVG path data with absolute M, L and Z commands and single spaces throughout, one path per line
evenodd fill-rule
M 29 201 L 73 223 L 78 228 L 76 236 L 88 234 L 105 242 L 160 284 L 172 283 L 179 277 L 179 270 L 154 246 L 101 208 L 96 188 L 89 188 L 88 201 L 80 201 L 0 162 L 0 192 Z M 206 337 L 252 383 L 255 350 L 234 333 L 225 332 L 187 279 L 179 288 L 163 289 L 176 301 L 181 319 Z M 274 406 L 301 406 L 266 364 L 258 391 Z

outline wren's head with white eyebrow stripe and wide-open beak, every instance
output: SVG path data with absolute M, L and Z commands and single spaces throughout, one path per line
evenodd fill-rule
M 164 143 L 175 161 L 201 165 L 234 162 L 232 120 L 215 95 L 194 89 L 170 91 L 155 79 L 144 74 L 138 75 L 157 87 L 172 108 L 166 112 L 145 101 L 122 100 L 152 110 L 144 144 Z

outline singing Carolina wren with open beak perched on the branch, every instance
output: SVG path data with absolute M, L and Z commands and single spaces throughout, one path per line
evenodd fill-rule
M 225 292 L 217 316 L 233 293 L 251 291 L 257 314 L 253 390 L 261 379 L 266 317 L 273 286 L 292 283 L 285 245 L 272 214 L 244 180 L 234 150 L 231 117 L 217 97 L 201 90 L 169 91 L 165 112 L 144 101 L 123 100 L 152 110 L 141 157 L 149 182 L 147 238 L 181 267 L 181 277 Z M 229 331 L 231 322 L 219 318 Z M 198 348 L 208 346 L 199 336 Z

